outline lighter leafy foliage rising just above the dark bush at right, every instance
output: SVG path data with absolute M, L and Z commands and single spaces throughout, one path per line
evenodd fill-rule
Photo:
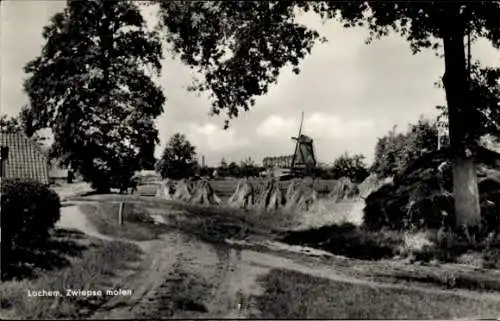
M 437 123 L 423 117 L 404 134 L 394 127 L 378 139 L 371 171 L 380 177 L 394 176 L 423 154 L 437 150 L 437 139 Z

